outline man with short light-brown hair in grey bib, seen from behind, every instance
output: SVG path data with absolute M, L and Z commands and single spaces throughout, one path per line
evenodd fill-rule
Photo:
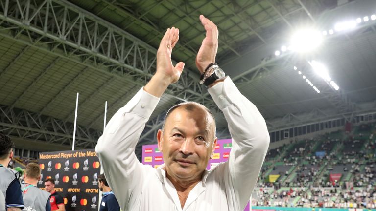
M 36 163 L 29 163 L 24 172 L 24 182 L 21 184 L 26 210 L 30 211 L 51 211 L 47 191 L 37 188 L 41 179 L 41 168 Z

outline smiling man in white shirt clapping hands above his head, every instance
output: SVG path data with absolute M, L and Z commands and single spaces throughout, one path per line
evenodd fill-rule
M 203 15 L 206 37 L 196 66 L 234 140 L 229 160 L 206 170 L 217 143 L 215 121 L 203 105 L 172 107 L 158 131 L 164 165 L 142 165 L 134 153 L 140 134 L 167 86 L 178 81 L 184 63 L 171 62 L 179 30 L 167 29 L 150 81 L 108 123 L 95 148 L 104 174 L 124 211 L 242 211 L 257 182 L 269 146 L 265 120 L 215 64 L 218 30 Z M 120 172 L 119 172 L 120 170 Z

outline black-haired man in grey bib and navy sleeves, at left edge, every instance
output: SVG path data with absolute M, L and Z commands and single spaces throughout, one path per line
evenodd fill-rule
M 20 211 L 24 209 L 20 175 L 7 168 L 13 158 L 13 141 L 0 133 L 0 211 Z

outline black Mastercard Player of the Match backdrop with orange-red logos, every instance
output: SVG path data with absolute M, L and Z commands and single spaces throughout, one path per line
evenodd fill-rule
M 40 189 L 45 189 L 46 178 L 53 178 L 67 211 L 98 210 L 100 163 L 94 149 L 41 152 L 38 161 L 42 169 Z

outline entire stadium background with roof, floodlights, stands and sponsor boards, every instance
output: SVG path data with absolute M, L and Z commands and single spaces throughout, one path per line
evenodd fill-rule
M 200 84 L 199 15 L 219 31 L 215 62 L 265 119 L 270 145 L 245 210 L 376 211 L 375 0 L 1 0 L 0 133 L 9 164 L 38 163 L 67 211 L 98 210 L 106 124 L 150 81 L 169 27 L 180 30 L 168 86 L 136 145 L 158 168 L 158 130 L 173 105 L 215 117 L 214 156 L 231 134 Z M 135 178 L 136 179 L 136 178 Z M 142 182 L 142 181 L 141 181 Z

